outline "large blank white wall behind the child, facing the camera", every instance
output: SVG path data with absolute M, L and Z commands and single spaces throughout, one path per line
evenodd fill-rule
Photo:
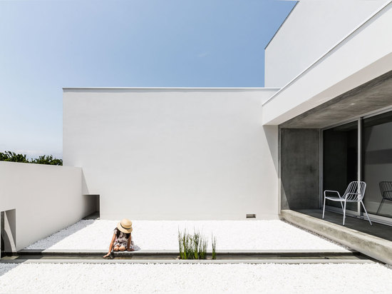
M 63 161 L 106 219 L 277 218 L 277 127 L 260 88 L 66 88 Z

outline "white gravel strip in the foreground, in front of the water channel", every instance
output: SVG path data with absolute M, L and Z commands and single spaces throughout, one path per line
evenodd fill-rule
M 392 293 L 379 264 L 0 263 L 0 293 Z

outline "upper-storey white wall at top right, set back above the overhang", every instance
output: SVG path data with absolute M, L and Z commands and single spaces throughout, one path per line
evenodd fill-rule
M 282 88 L 386 2 L 299 1 L 265 49 L 264 85 Z

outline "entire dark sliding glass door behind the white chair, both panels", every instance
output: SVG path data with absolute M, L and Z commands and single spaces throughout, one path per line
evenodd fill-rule
M 365 116 L 322 133 L 321 190 L 336 190 L 343 195 L 351 181 L 365 181 L 366 210 L 373 220 L 392 224 L 392 111 Z M 341 212 L 341 205 L 326 201 L 326 209 Z M 356 216 L 364 213 L 358 203 L 348 203 L 347 210 Z

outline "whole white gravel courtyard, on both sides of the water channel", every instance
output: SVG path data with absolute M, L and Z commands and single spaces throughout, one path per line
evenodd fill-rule
M 27 248 L 107 250 L 115 220 L 81 220 Z M 217 238 L 217 250 L 344 250 L 280 220 L 133 222 L 145 250 L 177 250 L 178 230 Z M 0 293 L 392 293 L 377 263 L 0 263 Z

